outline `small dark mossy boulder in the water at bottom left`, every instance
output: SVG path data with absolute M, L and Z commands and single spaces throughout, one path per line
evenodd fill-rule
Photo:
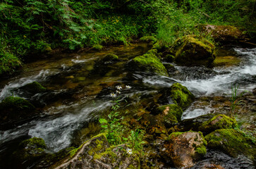
M 32 139 L 26 139 L 21 142 L 18 150 L 13 155 L 21 163 L 32 163 L 32 161 L 46 155 L 45 149 L 44 139 L 33 137 Z

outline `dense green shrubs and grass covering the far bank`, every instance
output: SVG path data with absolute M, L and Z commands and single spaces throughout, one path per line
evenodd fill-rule
M 0 3 L 0 74 L 24 56 L 57 47 L 100 49 L 154 35 L 171 44 L 196 25 L 255 27 L 254 0 L 4 0 Z

